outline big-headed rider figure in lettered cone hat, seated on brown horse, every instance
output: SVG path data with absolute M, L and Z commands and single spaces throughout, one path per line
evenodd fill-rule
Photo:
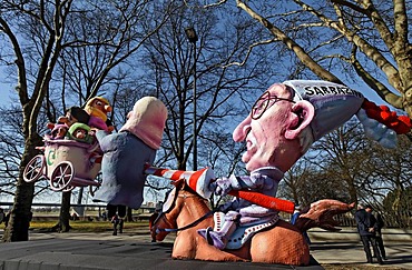
M 321 80 L 291 80 L 271 86 L 233 132 L 236 142 L 246 143 L 242 161 L 251 176 L 220 178 L 209 188 L 219 196 L 248 189 L 275 197 L 284 173 L 312 143 L 354 114 L 363 123 L 365 133 L 386 148 L 394 148 L 396 133 L 406 133 L 412 126 L 410 118 L 398 117 L 388 107 L 377 107 L 345 86 Z M 300 216 L 297 227 L 315 211 L 316 203 Z M 238 198 L 220 206 L 220 211 L 225 216 L 220 218 L 224 222 L 219 228 L 198 230 L 218 249 L 226 248 L 238 226 L 278 219 L 276 211 Z

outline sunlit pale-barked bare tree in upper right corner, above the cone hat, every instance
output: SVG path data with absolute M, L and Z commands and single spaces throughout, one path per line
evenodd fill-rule
M 204 7 L 230 3 L 209 1 Z M 411 11 L 405 0 L 236 0 L 236 7 L 267 30 L 262 41 L 282 44 L 281 61 L 294 70 L 292 78 L 315 76 L 343 84 L 366 84 L 412 117 Z

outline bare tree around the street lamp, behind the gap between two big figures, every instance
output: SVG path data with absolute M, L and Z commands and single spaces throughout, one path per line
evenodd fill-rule
M 225 19 L 226 11 L 234 16 L 230 20 Z M 200 167 L 227 174 L 238 161 L 238 154 L 233 159 L 239 149 L 232 130 L 272 76 L 265 57 L 241 64 L 255 32 L 248 31 L 244 17 L 235 16 L 233 10 L 183 7 L 146 42 L 141 63 L 148 70 L 143 80 L 169 111 L 161 159 L 168 167 L 185 170 L 193 164 L 194 133 Z M 196 50 L 185 34 L 188 27 L 197 32 Z M 263 49 L 259 52 L 267 56 Z

